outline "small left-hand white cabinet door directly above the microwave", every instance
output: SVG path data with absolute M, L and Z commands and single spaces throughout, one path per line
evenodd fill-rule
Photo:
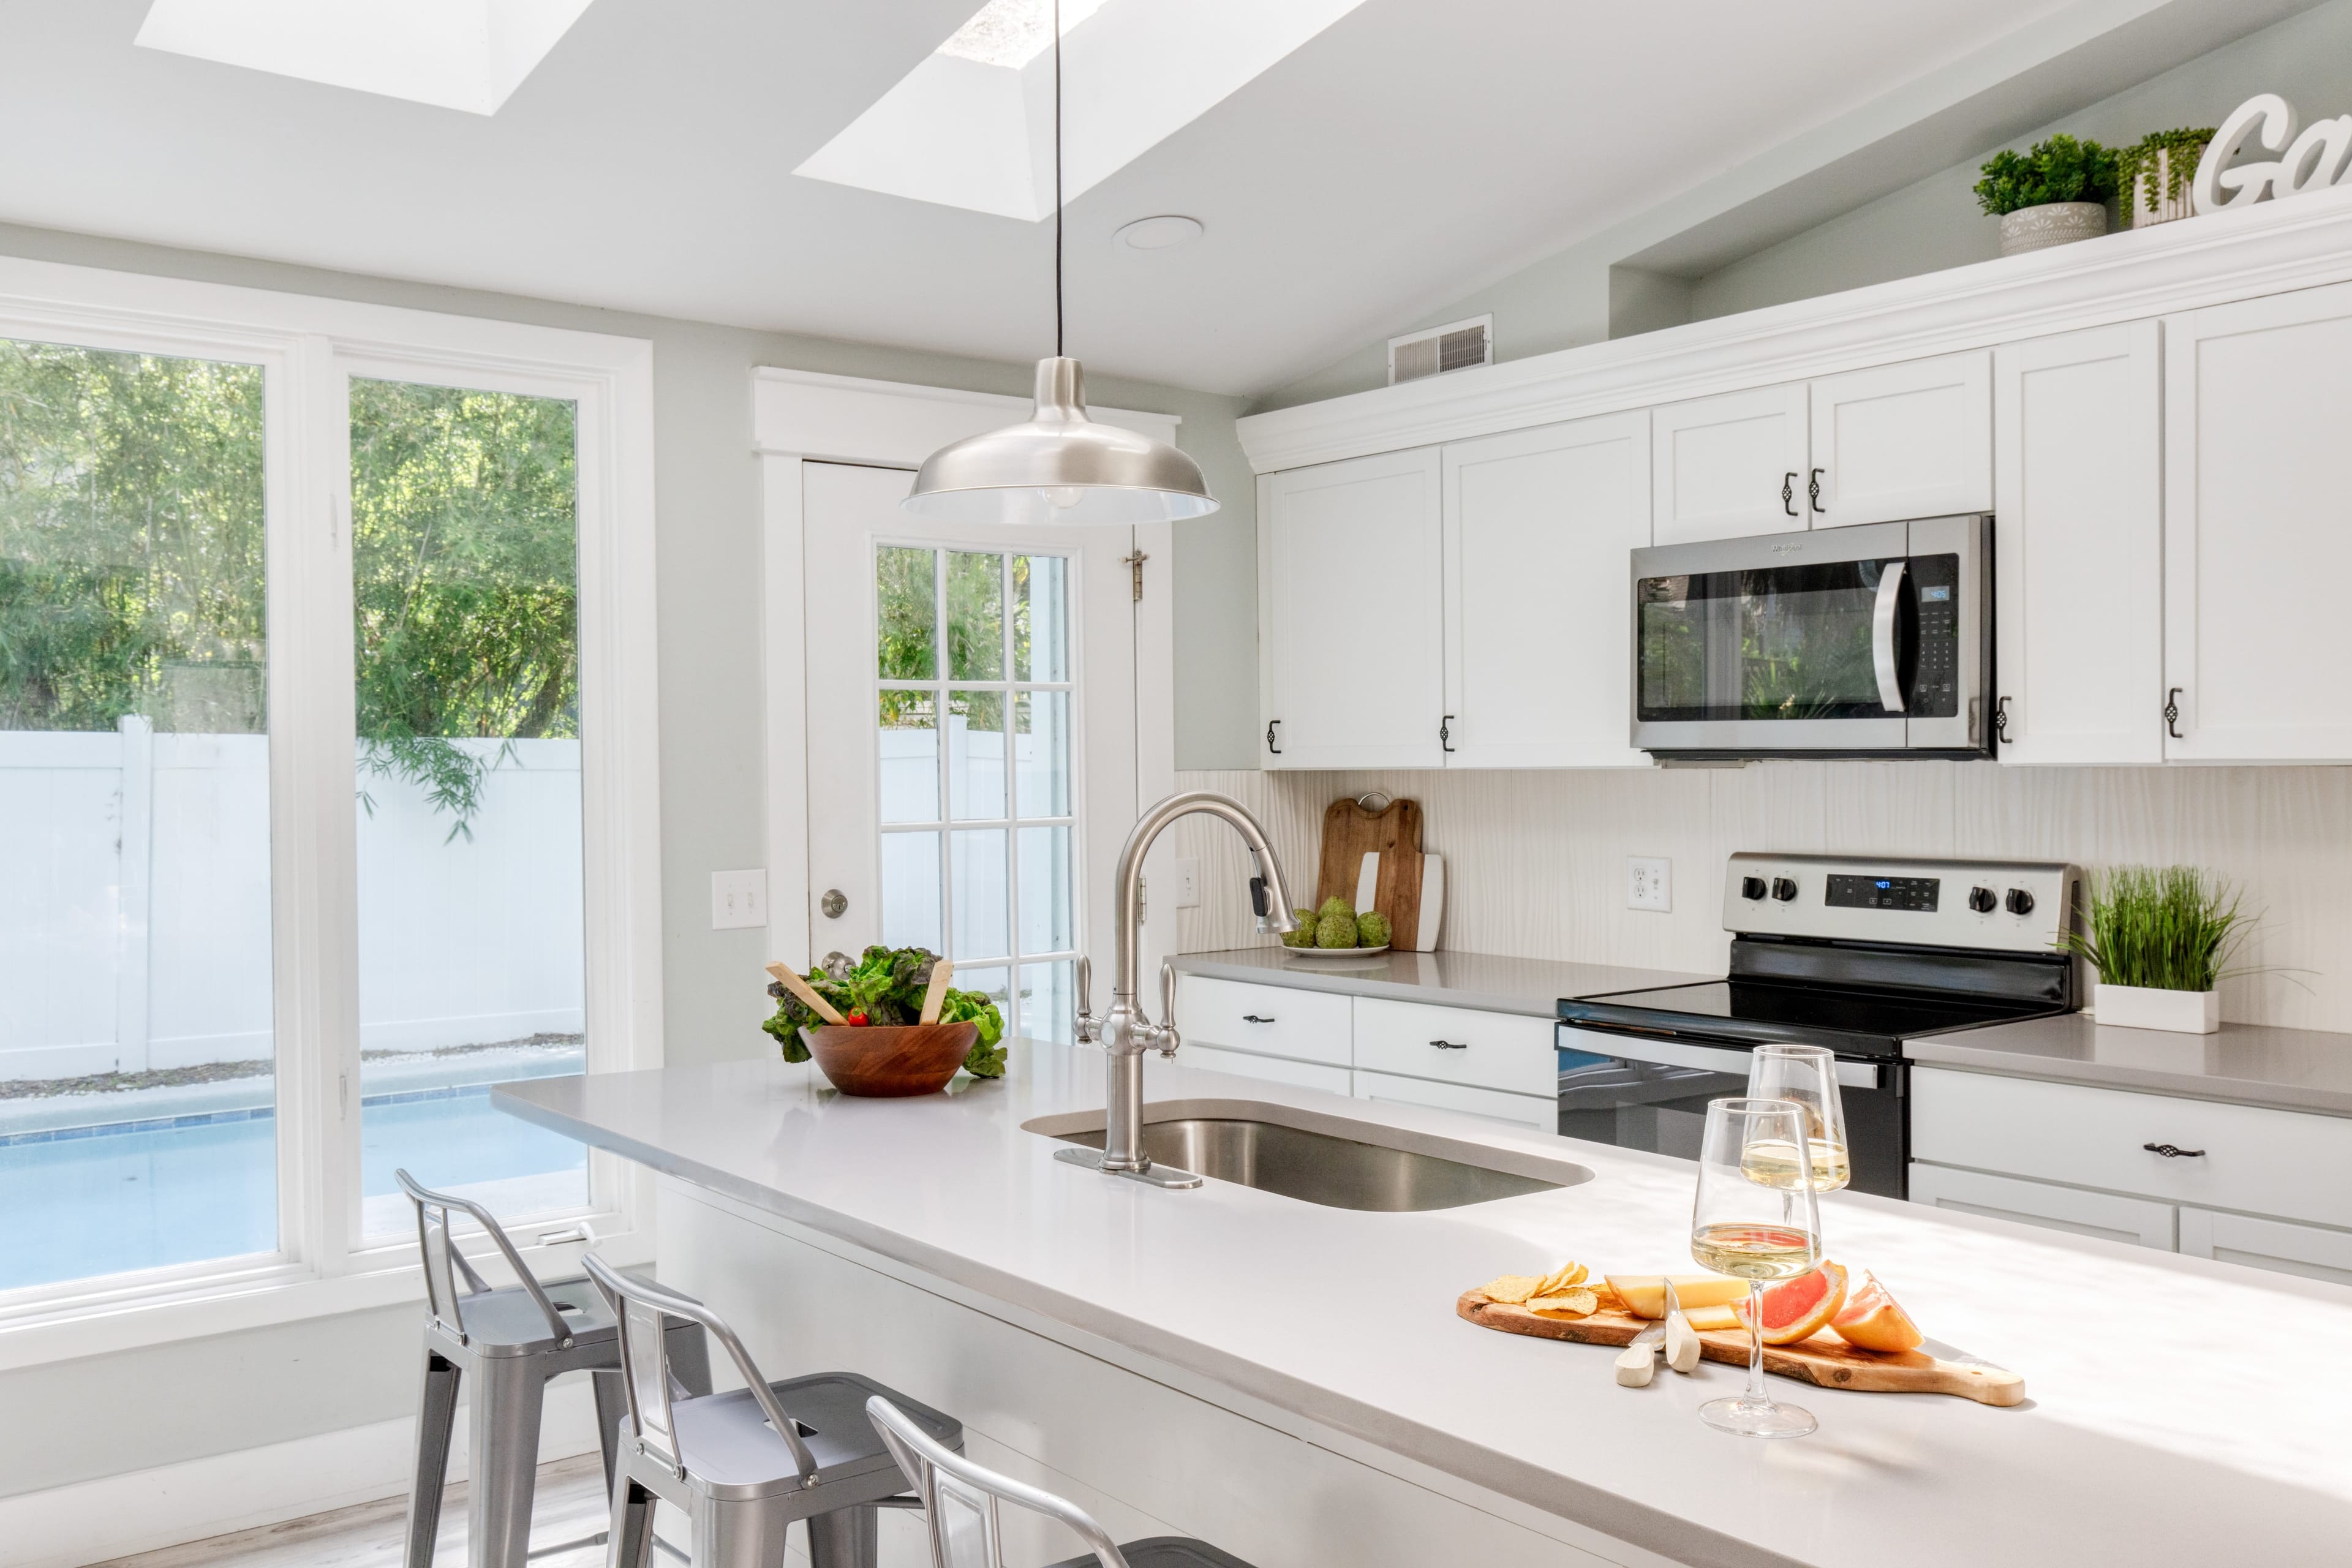
M 1802 381 L 1651 409 L 1653 543 L 1809 527 L 1806 416 Z

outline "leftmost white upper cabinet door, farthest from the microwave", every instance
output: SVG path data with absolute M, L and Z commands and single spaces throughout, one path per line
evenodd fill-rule
M 1258 693 L 1270 769 L 1444 764 L 1437 447 L 1258 482 Z

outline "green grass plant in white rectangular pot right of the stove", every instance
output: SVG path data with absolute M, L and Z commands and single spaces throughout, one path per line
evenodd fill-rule
M 2124 865 L 2098 879 L 2086 924 L 2060 945 L 2098 969 L 2100 1023 L 2220 1030 L 2216 985 L 2253 926 L 2227 882 L 2192 865 Z

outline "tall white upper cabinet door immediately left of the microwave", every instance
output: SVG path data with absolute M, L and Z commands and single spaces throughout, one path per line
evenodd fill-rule
M 1646 766 L 1628 745 L 1628 552 L 1649 411 L 1444 449 L 1446 766 Z

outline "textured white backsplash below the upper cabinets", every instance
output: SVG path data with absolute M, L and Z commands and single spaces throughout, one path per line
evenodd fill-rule
M 1724 858 L 1736 849 L 2204 865 L 2260 914 L 2223 980 L 2234 1023 L 2352 1030 L 2352 769 L 2004 769 L 1994 762 L 1759 762 L 1745 769 L 1552 773 L 1178 773 L 1261 816 L 1298 903 L 1312 903 L 1322 813 L 1343 795 L 1421 802 L 1446 858 L 1442 947 L 1722 973 Z M 1178 947 L 1251 931 L 1242 842 L 1178 823 L 1202 903 Z M 1670 856 L 1675 910 L 1625 907 L 1625 856 Z

